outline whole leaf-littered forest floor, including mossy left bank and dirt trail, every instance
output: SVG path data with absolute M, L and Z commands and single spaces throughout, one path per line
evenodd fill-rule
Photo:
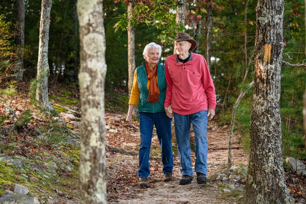
M 50 87 L 49 100 L 65 120 L 69 135 L 50 132 L 50 124 L 32 119 L 22 128 L 13 127 L 13 121 L 6 119 L 0 127 L 0 193 L 1 199 L 12 196 L 11 184 L 26 187 L 24 196 L 36 197 L 36 203 L 74 204 L 79 203 L 78 165 L 80 158 L 80 103 L 78 87 L 58 85 Z M 6 98 L 17 117 L 27 102 L 26 84 L 18 85 L 18 94 Z M 150 187 L 138 187 L 138 150 L 140 145 L 139 122 L 132 125 L 125 122 L 128 98 L 123 91 L 106 94 L 106 181 L 108 203 L 240 203 L 248 157 L 239 146 L 239 135 L 232 143 L 233 169 L 224 174 L 227 162 L 228 125 L 220 125 L 218 114 L 208 121 L 208 182 L 196 183 L 196 176 L 188 185 L 179 185 L 180 162 L 175 139 L 173 143 L 173 180 L 163 182 L 160 147 L 153 131 L 150 151 Z M 4 104 L 0 104 L 0 117 L 6 115 Z M 64 130 L 65 131 L 65 130 Z M 192 162 L 194 168 L 194 137 L 191 131 Z M 287 186 L 296 198 L 304 202 L 306 184 L 304 178 L 287 172 Z M 10 189 L 10 190 L 9 190 Z M 32 197 L 31 197 L 32 196 Z M 16 198 L 17 199 L 17 198 Z M 27 198 L 28 199 L 28 198 Z M 0 202 L 1 203 L 1 202 Z M 35 203 L 34 201 L 32 203 Z

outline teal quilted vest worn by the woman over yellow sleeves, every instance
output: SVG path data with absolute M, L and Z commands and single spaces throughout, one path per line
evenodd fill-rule
M 138 88 L 140 92 L 139 97 L 139 112 L 145 113 L 157 113 L 165 111 L 164 109 L 164 101 L 166 97 L 166 77 L 165 77 L 165 66 L 162 65 L 160 62 L 158 63 L 157 68 L 157 76 L 158 76 L 158 88 L 160 92 L 159 102 L 156 103 L 149 103 L 147 102 L 147 98 L 149 95 L 149 91 L 147 89 L 147 72 L 146 72 L 146 65 L 145 61 L 142 62 L 142 66 L 137 67 L 137 82 Z

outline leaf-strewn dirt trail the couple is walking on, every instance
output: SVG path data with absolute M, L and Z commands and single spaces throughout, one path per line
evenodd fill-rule
M 140 144 L 139 123 L 124 123 L 123 115 L 106 114 L 106 163 L 108 203 L 238 203 L 237 198 L 225 196 L 220 189 L 221 183 L 210 181 L 206 185 L 198 185 L 196 176 L 189 185 L 179 185 L 181 178 L 180 163 L 174 154 L 173 180 L 162 181 L 162 162 L 156 133 L 153 131 L 150 154 L 150 187 L 137 186 L 138 150 Z M 227 161 L 228 127 L 219 126 L 216 121 L 209 121 L 208 139 L 208 173 L 221 171 Z M 193 132 L 191 132 L 193 140 Z M 175 145 L 174 152 L 176 150 Z M 115 148 L 114 148 L 115 147 Z M 233 138 L 232 150 L 234 164 L 246 164 L 247 158 L 239 147 L 237 137 Z M 195 155 L 192 151 L 194 168 Z M 194 173 L 195 174 L 195 173 Z

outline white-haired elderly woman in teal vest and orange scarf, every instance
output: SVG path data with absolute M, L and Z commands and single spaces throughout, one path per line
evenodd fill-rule
M 134 74 L 133 87 L 129 99 L 129 111 L 126 121 L 132 123 L 132 110 L 139 99 L 139 186 L 148 187 L 147 177 L 150 174 L 149 155 L 153 126 L 155 125 L 162 153 L 163 180 L 172 179 L 173 156 L 171 120 L 164 109 L 166 96 L 165 66 L 159 62 L 162 48 L 155 43 L 149 43 L 144 48 L 142 65 L 137 67 Z

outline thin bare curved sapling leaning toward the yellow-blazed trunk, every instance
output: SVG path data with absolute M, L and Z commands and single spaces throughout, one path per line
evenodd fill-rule
M 227 155 L 227 168 L 226 168 L 226 174 L 230 171 L 230 167 L 232 165 L 232 161 L 231 161 L 231 157 L 232 157 L 232 138 L 233 138 L 233 131 L 234 131 L 234 124 L 235 124 L 235 115 L 236 115 L 236 109 L 242 99 L 242 97 L 245 95 L 245 93 L 254 85 L 254 81 L 252 81 L 249 85 L 248 88 L 244 91 L 241 92 L 241 94 L 239 95 L 239 97 L 237 98 L 237 101 L 233 107 L 233 116 L 232 116 L 232 123 L 231 123 L 231 127 L 230 127 L 230 136 L 229 136 L 229 147 L 228 147 L 228 155 Z

